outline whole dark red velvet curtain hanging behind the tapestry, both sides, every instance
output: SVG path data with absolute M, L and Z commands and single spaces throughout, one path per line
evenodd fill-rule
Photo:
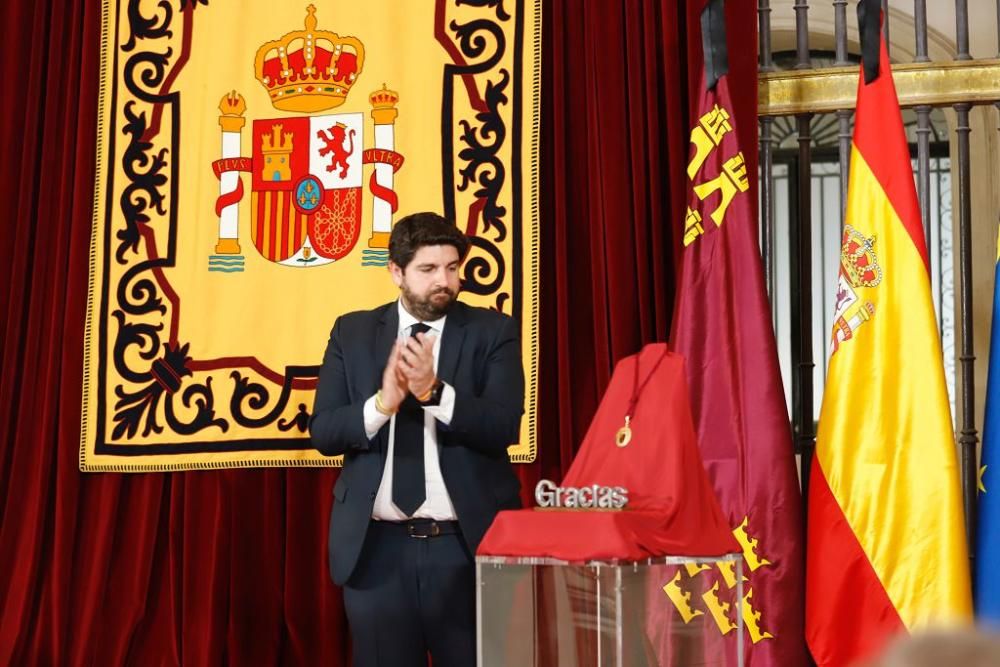
M 689 129 L 684 0 L 543 4 L 526 500 L 562 477 L 614 363 L 666 339 Z M 0 664 L 347 664 L 335 471 L 79 472 L 100 2 L 0 20 Z

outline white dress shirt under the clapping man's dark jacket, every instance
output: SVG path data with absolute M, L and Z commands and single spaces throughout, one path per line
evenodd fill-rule
M 406 338 L 410 335 L 410 328 L 419 320 L 413 317 L 403 307 L 402 301 L 396 302 L 399 309 L 399 330 L 397 337 Z M 434 336 L 434 372 L 437 373 L 438 359 L 441 356 L 441 334 L 444 333 L 444 324 L 447 316 L 433 322 L 424 322 L 431 328 L 425 335 Z M 413 517 L 415 519 L 435 519 L 437 521 L 453 521 L 457 518 L 455 506 L 448 495 L 448 489 L 444 485 L 444 478 L 441 476 L 441 463 L 439 453 L 441 445 L 437 439 L 437 424 L 435 420 L 444 425 L 451 423 L 451 417 L 455 412 L 455 389 L 451 385 L 444 383 L 441 390 L 441 402 L 438 405 L 424 406 L 424 484 L 427 497 L 424 504 L 417 508 Z M 372 518 L 378 521 L 406 521 L 411 518 L 406 516 L 396 504 L 392 502 L 392 466 L 394 456 L 394 443 L 396 440 L 396 417 L 389 417 L 382 414 L 375 407 L 375 397 L 370 397 L 365 401 L 364 407 L 365 432 L 368 438 L 374 438 L 378 430 L 386 422 L 389 422 L 389 452 L 385 459 L 385 469 L 382 471 L 382 482 L 379 484 L 378 493 L 375 496 L 375 505 L 372 508 Z

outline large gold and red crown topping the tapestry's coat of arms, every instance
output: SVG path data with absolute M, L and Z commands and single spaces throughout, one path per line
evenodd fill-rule
M 254 74 L 275 108 L 310 113 L 343 104 L 364 63 L 361 40 L 317 30 L 316 7 L 309 5 L 304 30 L 257 49 Z

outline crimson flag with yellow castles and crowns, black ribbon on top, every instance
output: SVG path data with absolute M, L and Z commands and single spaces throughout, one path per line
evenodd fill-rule
M 757 241 L 756 62 L 725 56 L 727 35 L 735 37 L 734 26 L 755 25 L 754 12 L 753 3 L 712 0 L 700 16 L 702 40 L 691 59 L 704 54 L 705 64 L 700 80 L 691 82 L 694 122 L 672 343 L 686 359 L 702 461 L 743 552 L 747 665 L 800 667 L 806 658 L 802 497 Z M 687 594 L 704 581 L 732 589 L 736 577 L 725 565 L 689 570 L 699 581 L 682 578 L 681 590 Z M 696 611 L 711 613 L 704 606 Z M 691 614 L 681 605 L 677 612 L 687 623 Z M 739 621 L 735 607 L 713 618 L 727 636 Z M 661 656 L 678 659 L 671 647 L 662 648 Z

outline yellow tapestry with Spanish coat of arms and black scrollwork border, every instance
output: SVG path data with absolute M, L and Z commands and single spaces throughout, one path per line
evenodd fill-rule
M 534 460 L 540 2 L 104 1 L 82 470 L 339 465 L 330 328 L 397 297 L 417 211 L 520 322 Z

